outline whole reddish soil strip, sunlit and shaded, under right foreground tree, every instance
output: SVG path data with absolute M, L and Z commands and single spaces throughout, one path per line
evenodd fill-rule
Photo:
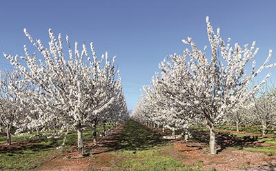
M 161 130 L 153 128 L 153 131 Z M 249 152 L 246 150 L 230 150 L 230 147 L 276 147 L 268 143 L 260 143 L 257 141 L 262 134 L 244 133 L 248 136 L 244 138 L 236 137 L 230 134 L 228 130 L 219 130 L 226 134 L 217 134 L 218 154 L 212 155 L 208 153 L 208 132 L 193 131 L 193 139 L 189 141 L 173 140 L 170 141 L 172 146 L 166 146 L 164 155 L 175 157 L 191 168 L 203 168 L 210 170 L 276 170 L 276 157 L 268 156 L 262 152 Z M 228 134 L 227 134 L 228 133 Z M 168 134 L 168 132 L 166 132 Z M 251 137 L 250 137 L 251 136 Z M 275 136 L 265 136 L 275 139 Z

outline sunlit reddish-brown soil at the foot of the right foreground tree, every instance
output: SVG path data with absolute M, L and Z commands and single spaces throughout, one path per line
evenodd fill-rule
M 254 168 L 255 170 L 275 169 L 276 157 L 260 152 L 248 152 L 246 150 L 222 150 L 216 155 L 208 154 L 208 147 L 203 143 L 193 141 L 175 141 L 172 147 L 166 150 L 168 155 L 175 156 L 185 165 L 192 168 L 203 168 L 210 170 L 244 170 Z M 186 155 L 175 155 L 184 152 Z

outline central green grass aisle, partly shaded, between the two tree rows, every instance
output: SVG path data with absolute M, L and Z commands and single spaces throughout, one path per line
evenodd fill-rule
M 135 121 L 128 121 L 120 145 L 121 150 L 112 154 L 121 160 L 111 170 L 195 171 L 181 161 L 166 155 L 165 147 L 171 144 L 159 139 L 159 135 Z

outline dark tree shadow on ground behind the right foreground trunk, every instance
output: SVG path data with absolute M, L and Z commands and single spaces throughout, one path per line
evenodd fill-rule
M 193 130 L 192 131 L 193 139 L 201 143 L 209 143 L 209 133 L 202 130 Z M 217 152 L 221 152 L 225 148 L 229 147 L 260 147 L 261 143 L 258 141 L 259 137 L 257 136 L 245 136 L 237 137 L 236 135 L 230 134 L 229 132 L 217 132 L 217 145 L 220 147 Z

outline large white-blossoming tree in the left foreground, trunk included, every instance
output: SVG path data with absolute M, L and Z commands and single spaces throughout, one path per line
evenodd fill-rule
M 98 59 L 92 43 L 92 56 L 85 45 L 80 52 L 77 42 L 75 49 L 72 49 L 68 36 L 66 43 L 69 55 L 66 57 L 61 34 L 55 37 L 50 29 L 49 48 L 45 48 L 41 40 L 34 41 L 26 29 L 24 32 L 42 57 L 30 55 L 26 46 L 26 55 L 21 59 L 26 61 L 27 67 L 18 61 L 18 55 L 4 56 L 19 68 L 26 81 L 35 85 L 37 98 L 33 112 L 55 114 L 62 125 L 75 128 L 78 151 L 83 154 L 83 128 L 108 110 L 117 98 L 115 60 L 110 63 L 107 53 Z

